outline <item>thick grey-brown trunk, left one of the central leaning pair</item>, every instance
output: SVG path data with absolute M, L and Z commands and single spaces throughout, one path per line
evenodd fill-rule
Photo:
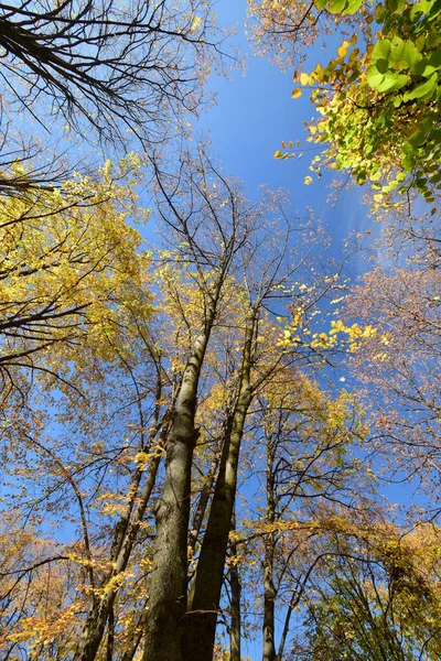
M 194 418 L 198 378 L 216 315 L 217 295 L 206 311 L 204 332 L 185 367 L 166 443 L 165 478 L 155 508 L 157 537 L 149 592 L 143 661 L 183 661 L 187 589 L 187 530 Z

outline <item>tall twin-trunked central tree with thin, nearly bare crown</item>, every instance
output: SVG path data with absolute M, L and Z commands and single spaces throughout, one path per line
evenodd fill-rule
M 304 347 L 295 347 L 291 353 L 280 343 L 280 350 L 272 355 L 272 347 L 266 348 L 265 334 L 260 343 L 256 339 L 267 327 L 266 315 L 276 315 L 273 306 L 277 302 L 287 302 L 291 296 L 295 296 L 294 292 L 298 291 L 298 283 L 293 282 L 295 267 L 291 266 L 295 264 L 295 261 L 290 254 L 290 239 L 294 228 L 287 219 L 283 220 L 283 216 L 282 220 L 276 216 L 275 226 L 270 226 L 268 220 L 269 214 L 275 214 L 280 206 L 278 198 L 269 195 L 265 205 L 249 206 L 229 181 L 213 169 L 213 164 L 203 153 L 191 164 L 182 163 L 179 175 L 164 175 L 157 166 L 157 176 L 160 177 L 158 186 L 163 196 L 163 210 L 160 207 L 160 213 L 169 226 L 179 232 L 181 246 L 186 251 L 185 262 L 190 260 L 191 278 L 201 292 L 201 318 L 204 319 L 204 326 L 203 332 L 194 335 L 194 339 L 192 327 L 189 326 L 191 348 L 183 367 L 183 384 L 186 382 L 192 388 L 185 395 L 187 405 L 192 408 L 186 414 L 186 422 L 190 424 L 189 427 L 185 426 L 185 436 L 182 440 L 179 436 L 173 437 L 172 426 L 168 448 L 170 458 L 166 470 L 170 481 L 165 473 L 166 500 L 161 499 L 157 510 L 159 533 L 153 559 L 144 659 L 173 654 L 176 659 L 208 660 L 213 655 L 237 489 L 239 453 L 251 402 L 263 384 L 280 370 L 293 364 L 301 365 L 302 361 L 308 364 L 310 359 L 313 360 L 314 349 L 319 345 L 312 342 L 312 346 L 305 344 Z M 272 205 L 273 209 L 268 204 Z M 265 251 L 262 246 L 266 246 Z M 334 282 L 333 279 L 330 280 Z M 241 311 L 237 326 L 232 319 L 232 302 L 227 308 L 223 306 L 227 292 L 229 300 L 233 283 L 237 288 Z M 310 294 L 312 307 L 314 301 L 325 295 L 331 286 L 325 280 L 310 289 L 303 285 L 300 292 L 305 290 Z M 225 321 L 222 316 L 218 317 L 220 311 L 227 315 Z M 198 378 L 201 369 L 205 366 L 204 359 L 209 350 L 214 327 L 222 323 L 235 329 L 238 354 L 237 358 L 230 361 L 230 371 L 228 370 L 229 388 L 233 387 L 233 391 L 224 419 L 222 453 L 194 578 L 186 596 L 186 502 L 190 502 L 195 402 Z M 271 325 L 268 326 L 267 333 L 271 333 L 270 329 Z M 197 355 L 193 354 L 196 350 Z M 176 405 L 179 403 L 180 394 Z M 181 433 L 183 430 L 182 426 Z M 183 443 L 185 445 L 181 448 Z M 176 469 L 175 475 L 172 468 Z M 185 508 L 180 505 L 183 502 Z M 176 579 L 172 581 L 174 576 Z M 180 626 L 183 629 L 181 635 Z M 169 637 L 166 643 L 163 641 L 164 628 L 176 632 L 175 636 Z M 183 651 L 184 644 L 186 651 Z

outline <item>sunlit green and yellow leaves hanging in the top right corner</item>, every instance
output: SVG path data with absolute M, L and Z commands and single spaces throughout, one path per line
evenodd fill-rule
M 359 184 L 380 182 L 374 207 L 399 203 L 410 188 L 433 203 L 441 189 L 441 26 L 434 7 L 387 0 L 376 8 L 380 30 L 364 52 L 354 35 L 343 40 L 335 59 L 298 75 L 313 87 L 311 100 L 322 116 L 306 127 L 306 140 L 316 127 L 322 165 L 347 170 Z M 347 12 L 343 0 L 320 8 Z

